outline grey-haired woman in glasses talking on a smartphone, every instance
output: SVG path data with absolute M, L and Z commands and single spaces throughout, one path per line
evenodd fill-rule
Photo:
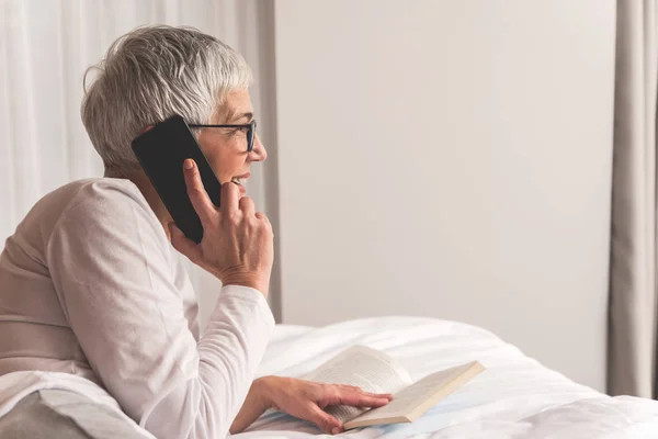
M 247 135 L 240 55 L 192 29 L 141 27 L 98 70 L 81 112 L 104 178 L 44 196 L 0 257 L 0 437 L 127 438 L 144 431 L 136 423 L 158 438 L 219 438 L 268 408 L 336 434 L 326 406 L 386 404 L 390 395 L 356 387 L 253 380 L 274 327 L 273 234 L 240 183 L 266 158 Z M 242 125 L 194 130 L 224 182 L 217 209 L 195 164 L 181 169 L 204 227 L 198 245 L 172 223 L 131 149 L 172 114 Z M 223 282 L 201 336 L 177 250 Z

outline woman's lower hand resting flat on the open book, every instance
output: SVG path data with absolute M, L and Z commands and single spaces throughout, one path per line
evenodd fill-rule
M 359 387 L 321 384 L 282 376 L 263 376 L 253 382 L 230 432 L 249 427 L 268 408 L 286 413 L 317 425 L 328 434 L 342 431 L 342 424 L 324 410 L 330 405 L 382 407 L 393 399 L 389 394 L 364 392 Z

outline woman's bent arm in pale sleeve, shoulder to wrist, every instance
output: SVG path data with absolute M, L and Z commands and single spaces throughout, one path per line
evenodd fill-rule
M 67 207 L 48 245 L 55 289 L 86 359 L 126 414 L 161 439 L 224 437 L 272 314 L 259 291 L 224 286 L 196 342 L 173 284 L 173 250 L 127 184 L 90 184 Z

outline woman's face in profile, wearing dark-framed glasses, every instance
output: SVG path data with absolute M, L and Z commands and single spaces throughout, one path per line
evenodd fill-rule
M 242 125 L 253 120 L 253 106 L 247 90 L 228 93 L 222 110 L 211 117 L 209 125 Z M 240 182 L 240 193 L 245 194 L 241 185 L 250 176 L 249 168 L 254 161 L 268 158 L 268 151 L 261 144 L 258 134 L 253 137 L 253 149 L 247 153 L 247 130 L 240 128 L 202 128 L 198 145 L 217 179 L 222 183 L 230 180 Z

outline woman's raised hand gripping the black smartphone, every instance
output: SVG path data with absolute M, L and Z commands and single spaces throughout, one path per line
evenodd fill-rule
M 240 198 L 231 182 L 222 184 L 222 205 L 217 209 L 194 160 L 185 160 L 183 173 L 188 195 L 203 225 L 203 239 L 196 245 L 169 223 L 173 247 L 224 285 L 251 286 L 266 296 L 274 259 L 274 235 L 268 217 L 256 213 L 253 201 Z

